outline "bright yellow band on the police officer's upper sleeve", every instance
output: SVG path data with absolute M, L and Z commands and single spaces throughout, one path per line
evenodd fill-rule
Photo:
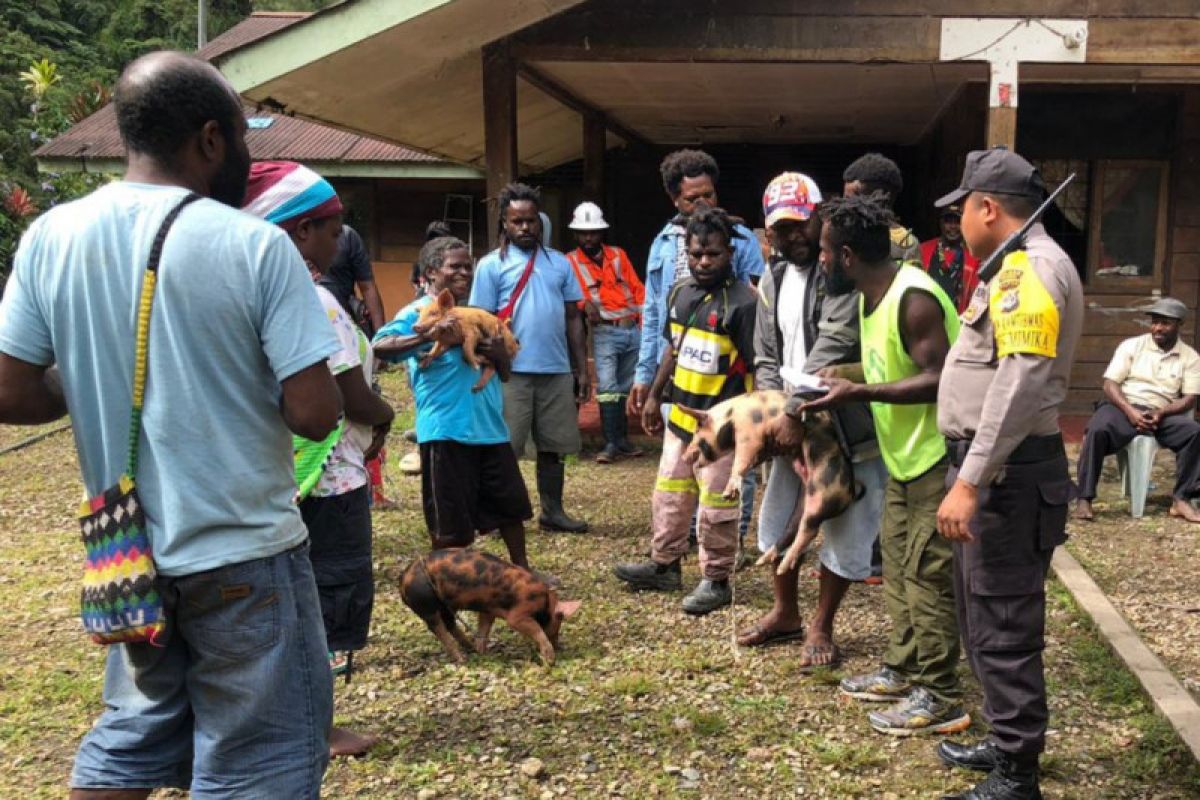
M 1057 355 L 1058 307 L 1054 305 L 1054 297 L 1046 291 L 1025 251 L 1004 258 L 1000 272 L 991 282 L 989 311 L 996 335 L 997 357 L 1003 359 L 1014 353 L 1048 359 Z

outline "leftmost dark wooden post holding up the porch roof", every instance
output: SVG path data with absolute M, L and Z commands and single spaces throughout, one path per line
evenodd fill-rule
M 497 245 L 497 197 L 517 178 L 517 65 L 508 44 L 484 48 L 484 158 L 487 169 L 487 242 Z

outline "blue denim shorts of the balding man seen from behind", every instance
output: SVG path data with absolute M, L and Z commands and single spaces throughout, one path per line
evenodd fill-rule
M 169 639 L 109 646 L 72 788 L 318 798 L 334 686 L 308 546 L 161 582 Z

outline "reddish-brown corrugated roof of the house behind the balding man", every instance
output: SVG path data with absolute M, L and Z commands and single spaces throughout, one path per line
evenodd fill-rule
M 282 30 L 305 17 L 304 12 L 256 12 L 197 52 L 212 59 L 258 38 Z M 340 131 L 306 120 L 246 107 L 246 115 L 270 120 L 266 127 L 251 127 L 246 133 L 250 155 L 256 161 L 347 162 L 347 163 L 436 163 L 440 158 L 388 142 Z M 58 160 L 121 160 L 125 145 L 116 128 L 116 113 L 106 106 L 88 119 L 71 126 L 34 156 Z

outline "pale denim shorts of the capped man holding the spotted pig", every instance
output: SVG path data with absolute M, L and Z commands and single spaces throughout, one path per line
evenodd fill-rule
M 880 534 L 883 489 L 888 470 L 880 457 L 854 464 L 854 480 L 863 485 L 863 497 L 840 517 L 821 525 L 821 564 L 847 581 L 864 581 L 871 575 L 871 547 Z M 785 536 L 784 528 L 800 495 L 800 479 L 791 461 L 776 458 L 758 511 L 758 549 L 767 552 Z

